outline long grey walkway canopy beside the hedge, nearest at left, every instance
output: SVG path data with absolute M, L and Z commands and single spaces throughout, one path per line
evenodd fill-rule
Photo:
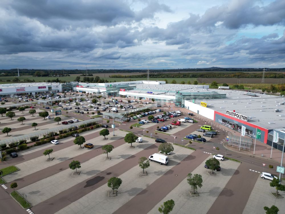
M 74 126 L 80 126 L 80 125 L 84 125 L 84 124 L 95 123 L 95 122 L 98 122 L 98 121 L 101 122 L 101 120 L 102 120 L 102 118 L 94 118 L 94 119 L 84 120 L 84 121 L 80 121 L 80 122 L 76 122 L 76 123 L 72 123 L 72 124 L 68 124 L 68 125 L 64 125 L 64 126 L 58 126 L 58 127 L 55 127 L 55 128 L 42 130 L 42 131 L 30 133 L 30 134 L 24 134 L 24 135 L 21 135 L 21 136 L 17 136 L 17 137 L 5 139 L 5 140 L 0 140 L 0 145 L 13 143 L 13 142 L 20 141 L 20 140 L 26 140 L 26 139 L 29 139 L 29 138 L 32 138 L 32 137 L 42 136 L 44 134 L 48 134 L 48 133 L 51 133 L 51 132 L 58 132 L 60 130 L 72 128 Z

